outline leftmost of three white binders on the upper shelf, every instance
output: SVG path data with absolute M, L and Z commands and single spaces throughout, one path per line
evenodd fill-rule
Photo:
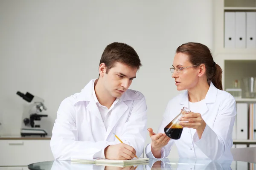
M 225 48 L 235 48 L 235 28 L 235 12 L 225 12 Z

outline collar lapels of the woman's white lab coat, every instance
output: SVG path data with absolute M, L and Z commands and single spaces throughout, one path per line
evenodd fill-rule
M 216 97 L 217 97 L 217 88 L 215 88 L 215 86 L 213 85 L 213 83 L 211 82 L 210 87 L 207 91 L 207 94 L 205 96 L 204 99 L 204 105 L 202 105 L 201 109 L 200 109 L 200 113 L 201 115 L 206 113 L 206 111 L 208 111 L 207 108 L 207 103 L 214 103 L 216 101 Z M 188 91 L 185 91 L 183 94 L 181 94 L 181 98 L 180 98 L 180 102 L 181 105 L 183 105 L 183 107 L 187 107 L 189 108 L 189 95 L 188 95 Z

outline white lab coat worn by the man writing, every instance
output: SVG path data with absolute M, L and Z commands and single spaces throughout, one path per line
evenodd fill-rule
M 146 137 L 147 106 L 145 97 L 128 89 L 111 112 L 106 130 L 98 106 L 93 99 L 91 80 L 80 93 L 61 102 L 52 130 L 50 146 L 55 159 L 96 159 L 108 145 L 119 144 L 113 133 L 143 153 Z

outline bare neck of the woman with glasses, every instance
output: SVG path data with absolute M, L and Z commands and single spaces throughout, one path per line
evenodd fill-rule
M 206 81 L 199 81 L 195 88 L 188 90 L 189 102 L 199 102 L 205 99 L 209 87 L 210 86 Z

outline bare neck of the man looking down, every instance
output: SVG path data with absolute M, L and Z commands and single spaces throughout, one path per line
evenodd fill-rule
M 96 79 L 94 82 L 94 90 L 99 103 L 106 106 L 108 109 L 111 107 L 113 102 L 116 100 L 115 97 L 111 96 L 102 84 L 101 79 Z

